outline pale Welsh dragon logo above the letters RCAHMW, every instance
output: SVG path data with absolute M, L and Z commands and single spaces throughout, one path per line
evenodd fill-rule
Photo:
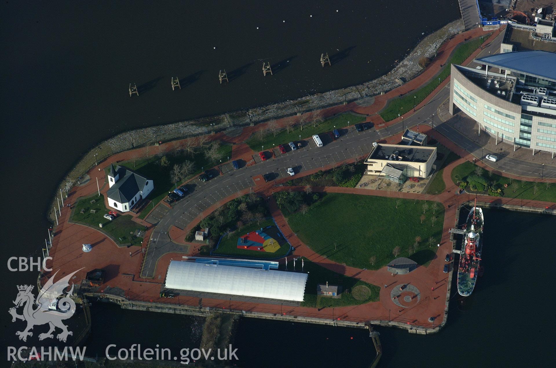
M 17 294 L 16 300 L 13 302 L 16 306 L 11 307 L 8 312 L 12 315 L 12 322 L 18 319 L 27 321 L 27 328 L 23 331 L 16 332 L 16 336 L 19 336 L 19 340 L 27 341 L 27 336 L 33 336 L 33 332 L 30 330 L 36 325 L 44 324 L 48 324 L 49 330 L 48 332 L 38 335 L 39 340 L 52 339 L 54 337 L 52 332 L 56 330 L 56 327 L 62 329 L 62 332 L 56 336 L 60 341 L 66 342 L 68 335 L 73 335 L 73 332 L 68 331 L 67 326 L 62 323 L 63 320 L 68 319 L 75 313 L 75 302 L 70 298 L 70 296 L 73 295 L 73 283 L 71 285 L 71 290 L 68 291 L 66 296 L 58 301 L 57 298 L 59 295 L 64 294 L 64 290 L 69 286 L 69 279 L 77 273 L 77 271 L 53 283 L 58 273 L 58 271 L 56 271 L 54 276 L 43 286 L 37 301 L 35 301 L 34 295 L 31 293 L 34 286 L 17 286 L 19 293 Z M 51 308 L 51 304 L 55 306 L 55 309 Z M 37 305 L 36 309 L 34 309 L 35 305 Z M 21 306 L 23 306 L 23 314 L 17 314 L 17 308 Z

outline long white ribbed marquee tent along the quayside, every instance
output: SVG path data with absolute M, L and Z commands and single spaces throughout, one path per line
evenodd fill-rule
M 307 274 L 170 261 L 166 288 L 303 301 Z

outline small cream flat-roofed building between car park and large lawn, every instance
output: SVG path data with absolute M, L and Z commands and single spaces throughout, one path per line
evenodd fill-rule
M 435 160 L 436 147 L 374 143 L 365 160 L 366 174 L 397 178 L 403 183 L 406 177 L 428 177 Z

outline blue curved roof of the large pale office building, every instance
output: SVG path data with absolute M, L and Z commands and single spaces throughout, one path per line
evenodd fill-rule
M 480 64 L 511 70 L 556 82 L 556 53 L 548 51 L 515 51 L 475 59 Z

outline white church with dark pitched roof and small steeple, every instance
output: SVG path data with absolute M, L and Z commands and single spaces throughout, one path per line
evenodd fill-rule
M 108 205 L 121 212 L 131 210 L 155 188 L 151 179 L 123 166 L 114 167 L 113 164 L 110 164 L 108 172 L 108 185 Z

